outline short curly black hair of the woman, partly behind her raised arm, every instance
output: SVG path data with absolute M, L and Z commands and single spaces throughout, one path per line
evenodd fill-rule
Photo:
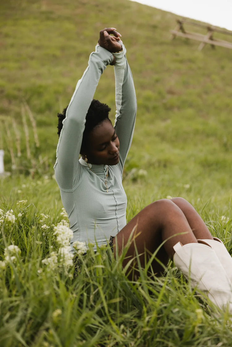
M 66 110 L 67 110 L 67 107 L 63 109 L 62 113 L 57 113 L 57 117 L 58 117 L 57 134 L 58 135 L 61 134 L 61 129 L 63 127 L 63 120 L 66 117 Z M 102 102 L 98 100 L 93 99 L 91 101 L 88 112 L 86 114 L 85 130 L 83 132 L 81 149 L 80 149 L 81 154 L 83 154 L 86 149 L 89 133 L 97 125 L 101 124 L 105 119 L 109 119 L 109 121 L 111 121 L 109 118 L 110 110 L 111 108 L 108 105 L 103 104 Z

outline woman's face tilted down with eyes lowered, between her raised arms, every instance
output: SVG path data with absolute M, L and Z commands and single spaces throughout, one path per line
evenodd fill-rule
M 105 119 L 91 131 L 85 155 L 91 164 L 118 164 L 119 139 L 110 120 Z

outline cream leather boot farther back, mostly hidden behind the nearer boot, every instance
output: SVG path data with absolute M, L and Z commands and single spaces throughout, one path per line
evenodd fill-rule
M 203 239 L 202 241 L 205 241 L 214 249 L 232 285 L 232 257 L 223 242 L 217 237 L 214 237 L 213 240 Z

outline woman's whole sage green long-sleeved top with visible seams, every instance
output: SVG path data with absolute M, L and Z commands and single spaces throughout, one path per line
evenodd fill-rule
M 108 166 L 91 165 L 79 160 L 85 117 L 103 71 L 113 55 L 97 45 L 89 57 L 88 67 L 78 81 L 66 111 L 57 145 L 54 166 L 63 206 L 69 216 L 75 241 L 107 244 L 126 225 L 127 197 L 122 186 L 122 171 L 131 145 L 135 117 L 136 95 L 133 77 L 126 60 L 126 49 L 114 54 L 115 74 L 115 133 L 120 141 L 119 163 Z

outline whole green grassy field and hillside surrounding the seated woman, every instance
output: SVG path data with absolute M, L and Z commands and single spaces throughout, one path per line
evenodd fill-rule
M 210 313 L 172 263 L 155 281 L 141 270 L 131 283 L 122 258 L 90 248 L 73 278 L 54 236 L 66 220 L 53 178 L 56 114 L 99 30 L 114 26 L 138 102 L 123 179 L 127 219 L 154 200 L 183 196 L 232 253 L 232 51 L 171 40 L 177 18 L 126 0 L 0 3 L 0 147 L 11 172 L 0 179 L 0 346 L 230 346 L 227 314 Z M 112 67 L 95 97 L 113 119 Z M 7 251 L 10 244 L 19 250 Z

